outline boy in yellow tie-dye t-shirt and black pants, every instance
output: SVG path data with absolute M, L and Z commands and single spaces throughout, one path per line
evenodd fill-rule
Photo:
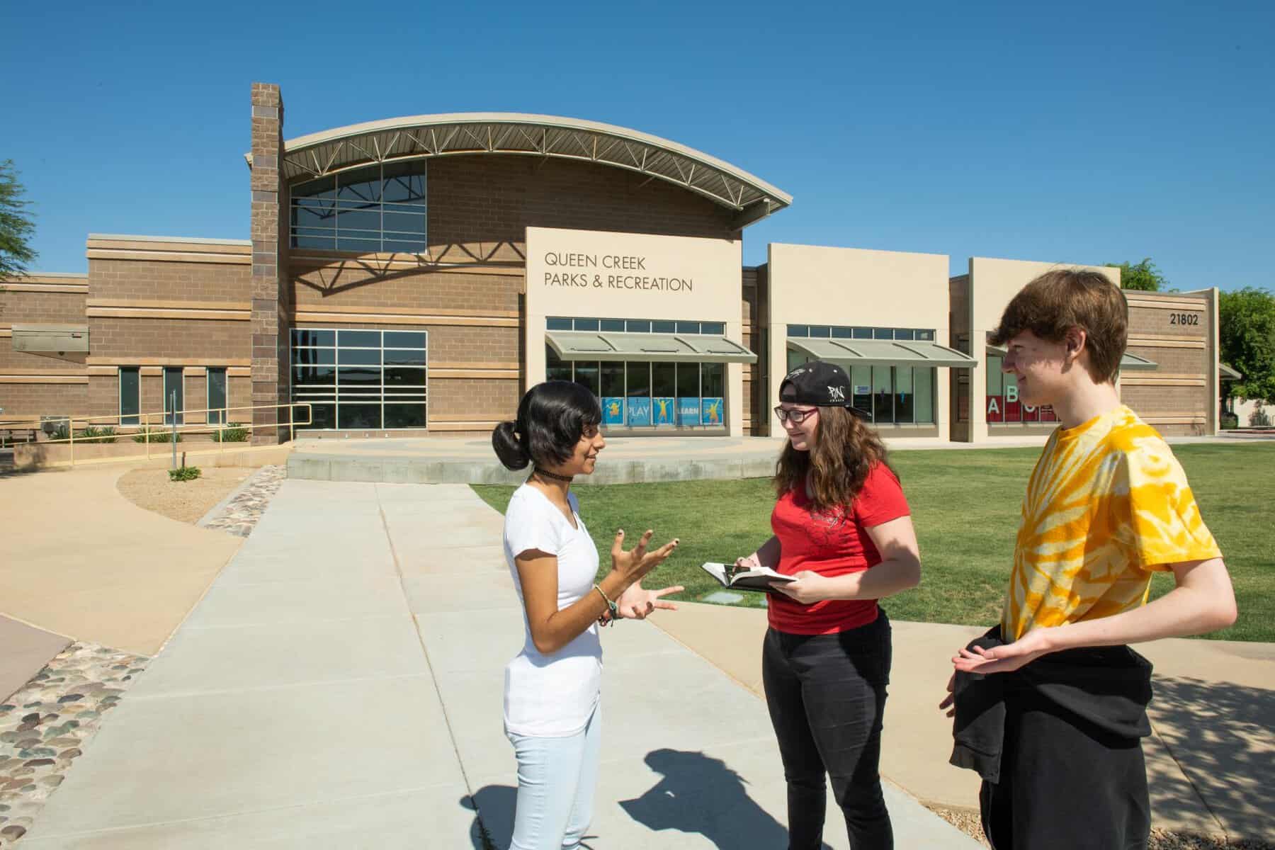
M 1001 623 L 952 659 L 941 703 L 956 717 L 952 763 L 983 776 L 994 850 L 1146 847 L 1151 665 L 1127 645 L 1235 621 L 1182 466 L 1119 401 L 1127 315 L 1103 274 L 1058 269 L 1019 292 L 989 336 L 1021 401 L 1052 405 L 1061 423 L 1023 500 Z M 1177 586 L 1148 604 L 1158 571 Z

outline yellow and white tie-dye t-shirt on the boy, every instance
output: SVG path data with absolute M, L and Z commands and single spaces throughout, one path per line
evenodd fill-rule
M 1121 405 L 1058 428 L 1040 452 L 1014 549 L 1003 640 L 1146 601 L 1151 572 L 1220 557 L 1164 438 Z

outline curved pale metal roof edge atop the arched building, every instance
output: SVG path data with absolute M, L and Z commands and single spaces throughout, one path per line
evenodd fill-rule
M 330 130 L 287 139 L 283 143 L 283 153 L 296 153 L 306 148 L 326 144 L 329 141 L 338 141 L 340 139 L 349 139 L 368 133 L 384 133 L 385 130 L 405 130 L 409 127 L 439 126 L 446 124 L 521 124 L 527 126 L 544 126 L 561 130 L 584 130 L 588 133 L 601 133 L 617 139 L 640 141 L 655 148 L 662 148 L 669 153 L 695 159 L 705 166 L 725 172 L 736 180 L 750 184 L 761 192 L 770 195 L 784 206 L 793 203 L 793 196 L 778 186 L 774 186 L 742 168 L 737 168 L 724 159 L 718 159 L 717 157 L 706 154 L 703 150 L 696 150 L 695 148 L 688 148 L 683 144 L 678 144 L 649 133 L 643 133 L 640 130 L 621 127 L 613 124 L 602 124 L 601 121 L 569 119 L 560 115 L 534 115 L 525 112 L 444 112 L 439 115 L 411 115 L 398 119 L 381 119 L 380 121 L 349 124 L 343 127 L 333 127 Z

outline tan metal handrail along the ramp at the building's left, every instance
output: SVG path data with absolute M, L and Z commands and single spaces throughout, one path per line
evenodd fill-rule
M 305 408 L 305 419 L 303 421 L 301 421 L 301 419 L 297 418 L 297 408 Z M 277 419 L 275 422 L 273 422 L 273 423 L 264 423 L 264 424 L 260 424 L 260 426 L 254 424 L 252 422 L 231 422 L 229 421 L 231 412 L 237 412 L 237 410 L 252 412 L 252 410 L 265 410 L 265 409 L 273 409 L 273 410 L 275 410 L 278 413 L 282 413 L 286 409 L 287 413 L 288 413 L 288 421 L 287 422 L 279 422 L 278 421 L 279 417 L 275 417 L 275 419 Z M 218 418 L 221 419 L 221 422 L 218 422 L 218 423 L 204 422 L 204 423 L 190 423 L 190 424 L 177 423 L 176 422 L 177 418 L 185 419 L 186 414 L 195 414 L 195 413 L 204 413 L 204 414 L 217 413 L 217 414 L 219 414 Z M 159 422 L 152 422 L 152 419 L 156 418 L 156 417 L 159 418 Z M 167 418 L 167 417 L 173 417 L 173 422 L 164 422 L 164 418 Z M 207 419 L 208 417 L 205 415 L 204 418 Z M 138 419 L 138 422 L 124 423 L 122 422 L 124 419 Z M 251 419 L 251 417 L 249 417 L 249 419 Z M 139 454 L 138 456 L 147 457 L 147 459 L 150 457 L 150 446 L 152 445 L 162 445 L 162 443 L 152 443 L 152 440 L 150 440 L 150 435 L 152 433 L 164 433 L 164 432 L 167 432 L 170 435 L 181 435 L 181 433 L 190 433 L 190 435 L 210 433 L 210 435 L 215 435 L 213 440 L 221 447 L 219 451 L 223 451 L 223 452 L 226 451 L 226 432 L 231 431 L 231 429 L 244 429 L 244 431 L 247 431 L 251 435 L 258 428 L 274 428 L 278 432 L 279 428 L 284 428 L 286 427 L 288 429 L 288 440 L 293 441 L 293 440 L 296 440 L 296 429 L 297 429 L 297 427 L 303 427 L 303 426 L 309 426 L 309 424 L 312 423 L 312 410 L 311 410 L 311 405 L 310 405 L 309 401 L 292 401 L 292 403 L 284 403 L 284 404 L 254 404 L 254 405 L 224 407 L 224 408 L 182 408 L 181 410 L 176 410 L 176 412 L 173 412 L 173 410 L 159 410 L 159 412 L 130 413 L 130 414 L 119 414 L 117 413 L 117 414 L 113 414 L 113 415 L 99 415 L 99 417 L 76 417 L 76 415 L 70 415 L 70 417 L 45 417 L 45 418 L 40 419 L 38 422 L 37 421 L 0 422 L 0 429 L 8 429 L 8 431 L 36 431 L 36 432 L 41 432 L 41 431 L 45 429 L 45 426 L 47 423 L 50 423 L 50 422 L 52 422 L 52 423 L 60 423 L 59 427 L 65 427 L 68 436 L 65 436 L 65 437 L 52 437 L 52 438 L 45 438 L 45 440 L 38 440 L 37 438 L 36 442 L 38 445 L 46 445 L 46 446 L 47 445 L 60 445 L 60 443 L 69 445 L 70 446 L 70 465 L 74 466 L 75 465 L 75 443 L 76 442 L 79 442 L 80 445 L 84 445 L 84 443 L 105 443 L 107 440 L 117 440 L 120 437 L 136 437 L 138 435 L 142 435 L 142 437 L 143 437 L 142 442 L 145 445 L 145 451 L 142 452 L 142 454 Z M 79 437 L 75 436 L 75 428 L 76 427 L 82 426 L 84 428 L 88 428 L 88 427 L 92 427 L 92 426 L 94 426 L 97 423 L 101 423 L 103 427 L 113 427 L 116 429 L 116 432 L 113 435 L 103 435 L 103 436 L 98 436 L 98 437 L 85 437 L 83 435 L 80 435 Z M 176 455 L 176 442 L 177 441 L 176 441 L 175 436 L 170 436 L 168 441 L 166 441 L 166 442 L 171 442 L 173 445 L 173 454 Z M 14 443 L 14 445 L 18 445 L 18 443 Z M 28 445 L 28 443 L 22 443 L 22 445 Z M 200 452 L 200 454 L 207 454 L 207 452 Z M 133 455 L 127 455 L 127 456 L 131 457 Z

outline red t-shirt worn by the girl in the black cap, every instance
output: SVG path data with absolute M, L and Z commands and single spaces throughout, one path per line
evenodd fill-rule
M 775 568 L 784 575 L 811 570 L 824 576 L 871 570 L 881 563 L 881 553 L 867 529 L 909 514 L 903 487 L 885 464 L 872 468 L 849 507 L 815 511 L 803 487 L 789 491 L 770 514 L 780 548 Z M 875 599 L 824 599 L 803 605 L 780 593 L 770 594 L 770 627 L 782 632 L 833 635 L 876 618 Z

